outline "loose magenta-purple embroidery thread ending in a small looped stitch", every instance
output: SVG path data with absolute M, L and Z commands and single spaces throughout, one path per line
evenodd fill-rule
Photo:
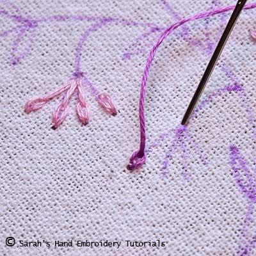
M 141 79 L 141 91 L 140 91 L 140 102 L 139 102 L 139 118 L 140 118 L 140 148 L 136 152 L 134 152 L 130 158 L 129 164 L 127 165 L 128 170 L 136 170 L 140 168 L 142 164 L 146 161 L 146 154 L 145 154 L 145 145 L 146 145 L 146 131 L 145 131 L 145 114 L 144 114 L 144 102 L 145 102 L 145 92 L 146 92 L 146 85 L 148 79 L 148 73 L 150 70 L 150 66 L 152 61 L 154 60 L 154 56 L 156 55 L 156 51 L 158 47 L 163 43 L 163 40 L 170 35 L 175 29 L 179 28 L 182 24 L 189 22 L 191 20 L 197 19 L 204 19 L 206 17 L 210 17 L 212 15 L 216 15 L 218 13 L 228 12 L 230 10 L 234 10 L 235 6 L 227 6 L 225 8 L 220 8 L 218 10 L 211 10 L 208 12 L 202 12 L 192 17 L 179 20 L 175 22 L 159 36 L 154 47 L 152 47 L 150 53 L 148 54 L 147 63 L 145 66 L 145 70 L 143 72 L 143 77 Z M 244 10 L 256 8 L 256 3 L 247 4 L 244 6 Z

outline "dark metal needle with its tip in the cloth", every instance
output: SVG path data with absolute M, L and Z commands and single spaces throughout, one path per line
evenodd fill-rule
M 230 20 L 228 20 L 228 24 L 225 28 L 225 31 L 223 32 L 223 35 L 220 38 L 220 41 L 218 42 L 218 45 L 212 54 L 212 58 L 204 72 L 204 76 L 202 77 L 202 80 L 200 81 L 198 88 L 196 89 L 195 94 L 193 95 L 193 98 L 191 99 L 191 102 L 189 103 L 188 109 L 186 110 L 186 113 L 182 119 L 181 124 L 182 125 L 188 125 L 189 118 L 193 114 L 196 104 L 198 103 L 198 100 L 200 99 L 202 93 L 204 92 L 204 88 L 209 81 L 209 78 L 211 77 L 212 71 L 214 70 L 214 67 L 216 66 L 216 63 L 218 62 L 221 52 L 223 51 L 223 48 L 225 47 L 225 44 L 228 40 L 228 37 L 230 36 L 230 33 L 232 32 L 232 29 L 236 25 L 236 21 L 239 17 L 239 14 L 243 10 L 244 4 L 247 0 L 239 0 L 236 4 L 236 8 L 234 9 Z

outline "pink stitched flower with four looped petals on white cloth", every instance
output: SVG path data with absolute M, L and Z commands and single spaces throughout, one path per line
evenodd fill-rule
M 61 93 L 65 92 L 65 96 L 61 100 L 60 104 L 56 106 L 53 114 L 52 114 L 52 128 L 56 129 L 60 127 L 60 125 L 63 123 L 65 118 L 67 117 L 69 113 L 68 109 L 68 102 L 71 99 L 74 92 L 77 92 L 77 106 L 76 106 L 76 113 L 79 121 L 86 125 L 89 122 L 89 106 L 88 103 L 85 100 L 84 97 L 84 81 L 83 81 L 83 73 L 75 73 L 74 77 L 70 79 L 66 84 L 63 84 L 58 90 L 49 93 L 45 95 L 44 97 L 40 97 L 34 100 L 29 100 L 25 104 L 25 112 L 30 113 L 32 111 L 36 111 L 40 108 L 42 108 L 49 100 L 53 99 L 54 97 L 57 97 Z M 99 103 L 100 107 L 106 112 L 111 115 L 116 115 L 116 107 L 113 103 L 113 100 L 111 97 L 106 94 L 102 93 L 95 95 L 95 99 Z

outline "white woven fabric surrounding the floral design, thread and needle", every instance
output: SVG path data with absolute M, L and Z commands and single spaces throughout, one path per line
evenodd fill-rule
M 167 3 L 167 0 L 166 0 Z M 132 1 L 0 1 L 1 10 L 40 19 L 52 15 L 90 15 L 150 22 L 165 28 L 179 17 L 235 4 L 236 1 L 169 0 L 172 12 L 161 0 Z M 252 3 L 252 2 L 250 2 Z M 14 6 L 19 7 L 15 10 Z M 168 6 L 167 6 L 168 7 Z M 0 41 L 1 86 L 1 173 L 0 254 L 1 255 L 175 255 L 231 256 L 239 254 L 241 230 L 250 200 L 237 186 L 230 166 L 230 144 L 239 148 L 250 170 L 255 170 L 255 140 L 248 111 L 255 115 L 256 43 L 249 30 L 256 29 L 256 10 L 242 13 L 236 29 L 207 85 L 209 93 L 234 84 L 223 72 L 234 72 L 243 84 L 246 99 L 237 92 L 216 97 L 189 124 L 193 140 L 204 154 L 202 163 L 195 147 L 187 143 L 190 179 L 182 175 L 182 154 L 170 160 L 168 172 L 160 172 L 172 134 L 148 153 L 147 163 L 130 173 L 125 165 L 138 149 L 138 98 L 140 81 L 150 47 L 159 31 L 131 45 L 148 28 L 109 24 L 93 32 L 83 45 L 81 69 L 99 92 L 108 92 L 118 115 L 108 116 L 86 91 L 91 106 L 90 124 L 82 127 L 70 101 L 70 113 L 59 129 L 51 129 L 51 115 L 61 98 L 27 115 L 24 103 L 52 92 L 74 72 L 77 42 L 92 21 L 45 22 L 35 28 L 31 52 L 12 65 L 15 33 Z M 205 32 L 216 43 L 221 19 L 217 15 L 186 24 L 189 44 L 182 29 L 170 35 L 159 48 L 148 80 L 146 97 L 147 146 L 179 124 L 204 72 L 210 55 Z M 0 15 L 1 33 L 17 26 Z M 20 42 L 26 49 L 29 39 Z M 145 48 L 145 49 L 144 49 Z M 143 49 L 143 51 L 140 49 Z M 125 52 L 131 58 L 124 58 Z M 243 171 L 243 170 L 242 170 Z M 254 206 L 254 205 L 253 205 Z M 246 224 L 247 240 L 256 235 L 256 209 Z M 253 219 L 253 217 L 255 217 Z M 15 237 L 13 247 L 6 237 Z M 245 236 L 245 235 L 244 235 Z M 19 240 L 74 241 L 160 241 L 164 247 L 47 248 L 20 247 Z M 248 255 L 256 255 L 252 250 Z

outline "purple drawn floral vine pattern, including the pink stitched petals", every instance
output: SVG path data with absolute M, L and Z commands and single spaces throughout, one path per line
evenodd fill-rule
M 20 9 L 17 8 L 14 4 L 10 3 L 9 1 L 2 0 L 0 1 L 2 4 L 6 4 L 6 6 L 10 6 L 10 8 L 18 13 L 18 14 L 10 14 L 10 12 L 6 10 L 0 10 L 0 15 L 7 17 L 8 19 L 13 20 L 17 24 L 14 28 L 10 28 L 6 31 L 3 31 L 0 34 L 0 38 L 5 38 L 6 36 L 9 36 L 10 34 L 15 34 L 16 37 L 12 42 L 12 51 L 11 51 L 11 59 L 12 59 L 12 65 L 17 65 L 22 61 L 26 56 L 29 55 L 29 52 L 31 51 L 31 47 L 33 44 L 33 38 L 34 33 L 36 31 L 36 28 L 43 22 L 64 22 L 64 21 L 76 21 L 76 20 L 84 20 L 84 21 L 93 21 L 92 26 L 90 28 L 86 29 L 83 33 L 83 36 L 81 36 L 79 42 L 77 43 L 76 47 L 76 68 L 74 70 L 74 73 L 70 77 L 70 80 L 68 80 L 67 83 L 63 84 L 58 90 L 49 93 L 48 95 L 45 95 L 45 97 L 40 97 L 34 100 L 29 100 L 26 103 L 25 111 L 27 113 L 30 113 L 31 111 L 36 111 L 42 106 L 44 106 L 49 100 L 53 99 L 53 97 L 57 97 L 61 93 L 65 92 L 65 96 L 63 97 L 63 100 L 58 104 L 56 109 L 54 110 L 53 116 L 52 116 L 52 122 L 54 124 L 54 128 L 57 128 L 60 126 L 60 124 L 65 120 L 65 117 L 68 114 L 68 108 L 67 104 L 72 96 L 72 94 L 76 91 L 78 93 L 78 103 L 76 107 L 77 116 L 79 120 L 82 122 L 82 124 L 88 124 L 89 122 L 89 108 L 88 104 L 84 97 L 83 87 L 88 86 L 90 88 L 91 93 L 93 97 L 95 97 L 95 100 L 99 103 L 99 105 L 106 111 L 107 113 L 111 115 L 116 115 L 116 107 L 113 103 L 113 100 L 111 97 L 106 93 L 99 93 L 97 88 L 90 82 L 88 77 L 84 74 L 84 72 L 81 71 L 81 52 L 84 42 L 88 39 L 88 36 L 90 36 L 93 32 L 99 30 L 100 28 L 106 26 L 107 24 L 122 24 L 123 26 L 142 26 L 145 28 L 145 32 L 136 38 L 134 42 L 128 47 L 127 52 L 124 53 L 124 59 L 129 60 L 132 58 L 132 56 L 139 54 L 140 52 L 145 52 L 150 45 L 143 45 L 142 48 L 140 48 L 140 42 L 142 40 L 145 40 L 145 38 L 148 38 L 151 35 L 154 35 L 155 33 L 159 33 L 163 31 L 164 28 L 161 28 L 159 26 L 156 26 L 154 24 L 150 23 L 141 23 L 136 22 L 132 20 L 122 20 L 118 18 L 113 17 L 90 17 L 86 15 L 77 15 L 77 16 L 68 16 L 68 15 L 54 15 L 52 17 L 45 17 L 42 19 L 31 19 L 28 17 L 23 17 L 20 15 Z M 164 8 L 170 13 L 172 18 L 174 19 L 180 19 L 179 13 L 175 12 L 170 4 L 166 0 L 159 0 L 159 3 L 163 4 Z M 217 0 L 212 1 L 214 5 L 218 5 L 219 2 Z M 225 13 L 221 15 L 221 24 L 225 24 Z M 205 31 L 208 30 L 209 23 L 205 22 Z M 221 32 L 221 29 L 220 29 Z M 25 49 L 24 52 L 18 53 L 19 45 L 24 36 L 29 33 L 29 41 L 30 44 Z M 186 28 L 186 25 L 182 28 L 182 33 L 180 35 L 184 38 L 184 40 L 187 40 L 189 44 L 194 45 L 195 47 L 198 47 L 200 49 L 205 49 L 205 45 L 207 45 L 205 53 L 211 54 L 212 50 L 214 49 L 214 42 L 211 41 L 209 33 L 205 32 L 205 42 L 202 44 L 202 42 L 195 42 L 193 40 L 189 40 L 189 31 L 188 28 Z M 220 33 L 218 37 L 220 37 Z M 256 34 L 255 30 L 250 31 L 250 35 L 253 40 L 256 40 Z M 239 93 L 239 97 L 243 100 L 246 99 L 246 92 L 244 91 L 243 86 L 241 86 L 241 83 L 239 83 L 237 77 L 232 73 L 230 68 L 228 68 L 226 65 L 223 65 L 221 67 L 223 72 L 227 75 L 227 77 L 233 82 L 233 84 L 230 84 L 228 86 L 225 86 L 223 88 L 218 89 L 216 92 L 211 93 L 207 95 L 204 100 L 198 105 L 198 108 L 196 108 L 195 114 L 192 116 L 191 119 L 195 118 L 198 111 L 200 109 L 204 108 L 206 104 L 209 104 L 214 100 L 216 97 L 220 96 L 222 93 L 227 92 L 237 92 Z M 250 110 L 246 104 L 244 104 L 244 108 L 246 109 L 246 113 L 248 115 L 248 122 L 255 127 L 255 117 L 253 116 L 252 110 Z M 172 159 L 173 154 L 175 152 L 182 152 L 182 159 L 183 159 L 183 175 L 185 179 L 189 179 L 189 173 L 188 173 L 188 154 L 186 145 L 184 141 L 189 142 L 191 145 L 193 145 L 193 148 L 196 151 L 196 154 L 200 156 L 200 159 L 202 159 L 202 163 L 207 164 L 207 161 L 202 154 L 202 150 L 198 147 L 198 145 L 195 143 L 195 140 L 193 140 L 193 136 L 189 132 L 188 127 L 184 127 L 182 125 L 179 125 L 176 129 L 172 129 L 171 131 L 164 132 L 157 138 L 152 145 L 150 145 L 147 148 L 147 153 L 154 150 L 154 148 L 158 147 L 162 141 L 164 141 L 166 138 L 170 138 L 170 136 L 173 136 L 173 140 L 171 143 L 171 147 L 169 148 L 168 152 L 166 152 L 166 157 L 163 162 L 163 167 L 161 168 L 161 171 L 163 173 L 166 173 L 166 169 L 168 167 L 168 161 Z M 253 129 L 252 134 L 253 140 L 256 138 L 256 131 L 255 128 Z M 256 236 L 249 236 L 248 234 L 248 225 L 252 224 L 252 216 L 253 216 L 253 207 L 256 202 L 256 180 L 255 176 L 253 178 L 253 175 L 256 174 L 256 170 L 250 171 L 248 168 L 248 164 L 246 161 L 244 161 L 243 156 L 241 156 L 241 153 L 239 151 L 239 148 L 236 145 L 230 145 L 230 166 L 233 170 L 234 179 L 237 182 L 237 186 L 239 189 L 241 189 L 242 193 L 246 196 L 246 198 L 249 201 L 248 211 L 245 216 L 244 220 L 244 228 L 241 232 L 241 241 L 239 242 L 239 252 L 237 252 L 237 255 L 251 255 L 252 248 L 255 247 L 256 244 Z M 247 181 L 244 184 L 244 180 L 241 180 L 241 173 L 245 173 Z M 252 175 L 253 173 L 253 175 Z M 244 240 L 245 239 L 245 240 Z M 244 241 L 243 241 L 244 240 Z M 245 245 L 244 245 L 245 244 Z

